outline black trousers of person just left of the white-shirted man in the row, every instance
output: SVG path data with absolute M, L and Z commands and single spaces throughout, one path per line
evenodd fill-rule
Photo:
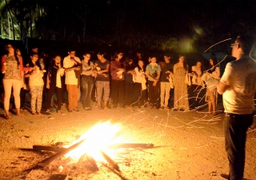
M 62 85 L 62 88 L 58 88 L 56 84 L 50 84 L 50 89 L 48 90 L 47 94 L 47 104 L 46 108 L 50 109 L 50 102 L 51 98 L 53 97 L 54 92 L 57 94 L 57 110 L 61 110 L 62 108 L 62 102 L 64 98 L 64 86 Z

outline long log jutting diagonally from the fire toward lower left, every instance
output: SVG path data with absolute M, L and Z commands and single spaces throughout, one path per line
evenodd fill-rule
M 33 169 L 38 169 L 38 168 L 42 168 L 45 167 L 47 165 L 50 164 L 50 162 L 53 162 L 56 158 L 62 157 L 63 155 L 69 153 L 71 150 L 74 150 L 75 148 L 77 148 L 78 146 L 80 146 L 82 144 L 82 142 L 84 142 L 86 139 L 83 139 L 82 141 L 75 143 L 74 145 L 68 147 L 68 148 L 63 148 L 63 150 L 61 152 L 58 152 L 57 154 L 54 154 L 52 156 L 50 156 L 49 158 L 44 159 L 42 162 L 38 162 L 38 164 L 32 168 L 30 168 L 29 170 L 33 170 Z M 24 171 L 28 171 L 28 170 L 24 170 Z

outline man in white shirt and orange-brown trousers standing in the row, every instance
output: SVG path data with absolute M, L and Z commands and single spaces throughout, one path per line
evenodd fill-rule
M 68 56 L 64 58 L 63 67 L 66 73 L 66 90 L 69 102 L 69 112 L 79 112 L 78 110 L 78 90 L 80 80 L 81 61 L 80 58 L 75 56 L 74 50 L 68 51 Z

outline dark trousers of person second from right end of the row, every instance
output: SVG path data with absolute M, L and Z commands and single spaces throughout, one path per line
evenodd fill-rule
M 202 86 L 191 85 L 189 88 L 189 102 L 190 108 L 195 109 L 199 106 L 199 102 L 202 102 L 203 93 L 205 90 L 202 90 Z

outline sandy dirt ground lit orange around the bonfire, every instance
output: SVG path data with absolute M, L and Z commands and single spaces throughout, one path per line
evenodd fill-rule
M 33 116 L 24 112 L 26 118 L 18 118 L 14 114 L 10 121 L 0 118 L 0 179 L 206 180 L 221 179 L 220 174 L 228 173 L 222 130 L 224 114 L 211 118 L 205 116 L 206 110 L 182 112 L 146 108 L 98 110 L 94 107 L 86 111 L 82 110 L 81 104 L 79 113 L 68 113 L 64 109 L 65 114 L 62 115 L 54 112 Z M 218 110 L 222 112 L 221 104 Z M 122 125 L 119 136 L 124 142 L 153 143 L 154 148 L 117 149 L 119 156 L 114 161 L 121 172 L 104 163 L 95 170 L 85 157 L 77 163 L 57 158 L 42 169 L 30 169 L 56 154 L 53 151 L 30 150 L 34 145 L 70 144 L 97 122 L 107 120 Z M 247 133 L 246 179 L 256 179 L 255 125 L 256 121 Z M 62 172 L 59 169 L 61 165 Z

